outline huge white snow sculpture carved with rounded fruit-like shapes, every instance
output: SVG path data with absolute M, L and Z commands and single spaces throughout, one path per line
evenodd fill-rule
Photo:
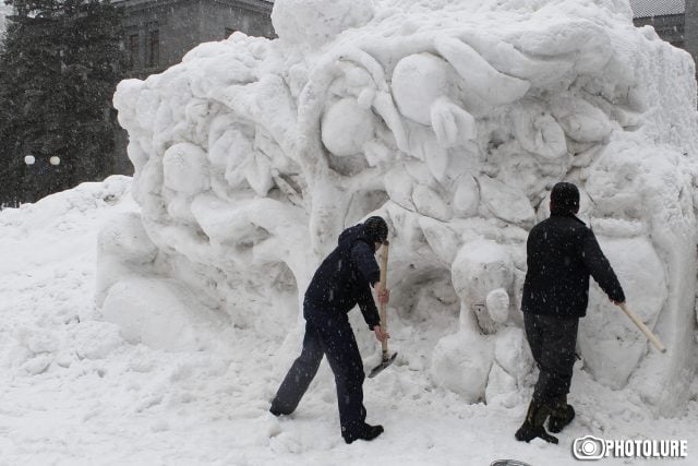
M 254 327 L 286 337 L 290 358 L 315 266 L 344 227 L 378 214 L 394 336 L 414 348 L 402 362 L 510 406 L 533 366 L 527 232 L 567 180 L 629 307 L 669 348 L 650 350 L 594 285 L 585 368 L 664 414 L 683 405 L 698 205 L 686 52 L 635 28 L 627 0 L 277 0 L 272 19 L 278 39 L 236 33 L 119 85 L 142 214 L 100 237 L 107 319 L 163 347 L 202 344 L 188 325 Z

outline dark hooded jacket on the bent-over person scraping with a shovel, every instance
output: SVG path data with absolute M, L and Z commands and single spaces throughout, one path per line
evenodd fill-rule
M 369 327 L 380 325 L 370 288 L 381 279 L 374 253 L 375 246 L 363 224 L 344 230 L 339 244 L 323 261 L 308 286 L 303 301 L 305 319 L 322 319 L 324 313 L 346 314 L 358 303 Z

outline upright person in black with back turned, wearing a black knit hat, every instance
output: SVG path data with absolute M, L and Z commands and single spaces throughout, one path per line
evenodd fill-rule
M 551 216 L 535 225 L 526 244 L 528 271 L 521 311 L 526 337 L 540 369 L 533 398 L 516 439 L 557 443 L 543 427 L 559 432 L 575 417 L 567 404 L 579 319 L 587 313 L 589 276 L 616 304 L 625 302 L 618 279 L 579 211 L 579 190 L 559 182 L 550 196 Z

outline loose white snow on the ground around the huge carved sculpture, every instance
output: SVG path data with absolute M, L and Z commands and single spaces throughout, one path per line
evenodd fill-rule
M 386 429 L 376 441 L 341 440 L 325 363 L 298 411 L 277 420 L 266 410 L 287 369 L 276 363 L 280 340 L 230 327 L 206 350 L 168 353 L 125 343 L 100 320 L 97 232 L 137 210 L 129 186 L 113 177 L 0 213 L 0 465 L 566 465 L 586 434 L 686 439 L 688 457 L 675 463 L 697 464 L 695 394 L 683 418 L 652 419 L 637 395 L 581 368 L 570 396 L 578 418 L 559 445 L 514 440 L 529 393 L 512 409 L 468 405 L 400 358 L 364 385 L 369 421 Z M 392 345 L 409 355 L 424 337 L 428 327 L 398 327 Z

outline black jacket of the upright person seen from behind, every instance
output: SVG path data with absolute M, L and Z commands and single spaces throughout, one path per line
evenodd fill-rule
M 614 301 L 623 288 L 593 231 L 574 215 L 551 215 L 535 225 L 526 244 L 528 272 L 521 310 L 532 314 L 581 318 L 589 302 L 589 276 Z

